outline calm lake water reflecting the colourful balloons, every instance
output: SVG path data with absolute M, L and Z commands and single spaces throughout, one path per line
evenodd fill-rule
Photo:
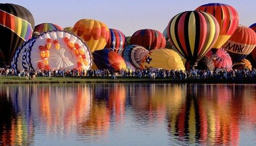
M 256 145 L 256 84 L 4 84 L 0 145 Z

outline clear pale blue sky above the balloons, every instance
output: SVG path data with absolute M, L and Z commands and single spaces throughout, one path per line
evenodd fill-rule
M 249 26 L 256 22 L 255 0 L 0 0 L 0 2 L 25 6 L 33 14 L 35 24 L 50 22 L 65 28 L 73 26 L 80 19 L 91 18 L 106 23 L 109 28 L 123 31 L 126 36 L 146 28 L 163 32 L 174 15 L 216 2 L 235 7 L 239 13 L 239 24 Z

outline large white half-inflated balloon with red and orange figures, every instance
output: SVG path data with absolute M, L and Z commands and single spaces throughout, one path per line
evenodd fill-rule
M 83 40 L 61 30 L 41 33 L 26 41 L 11 63 L 12 68 L 37 70 L 88 70 L 92 66 L 91 53 Z

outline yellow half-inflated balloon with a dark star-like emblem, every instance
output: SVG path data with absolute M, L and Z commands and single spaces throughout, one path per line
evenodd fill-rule
M 141 68 L 163 68 L 166 70 L 185 70 L 180 55 L 171 49 L 155 49 L 142 59 Z

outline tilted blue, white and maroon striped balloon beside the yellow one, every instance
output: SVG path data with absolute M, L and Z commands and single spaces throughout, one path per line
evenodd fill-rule
M 141 60 L 148 53 L 148 50 L 139 45 L 129 45 L 119 51 L 125 61 L 130 62 L 135 68 L 140 68 Z

